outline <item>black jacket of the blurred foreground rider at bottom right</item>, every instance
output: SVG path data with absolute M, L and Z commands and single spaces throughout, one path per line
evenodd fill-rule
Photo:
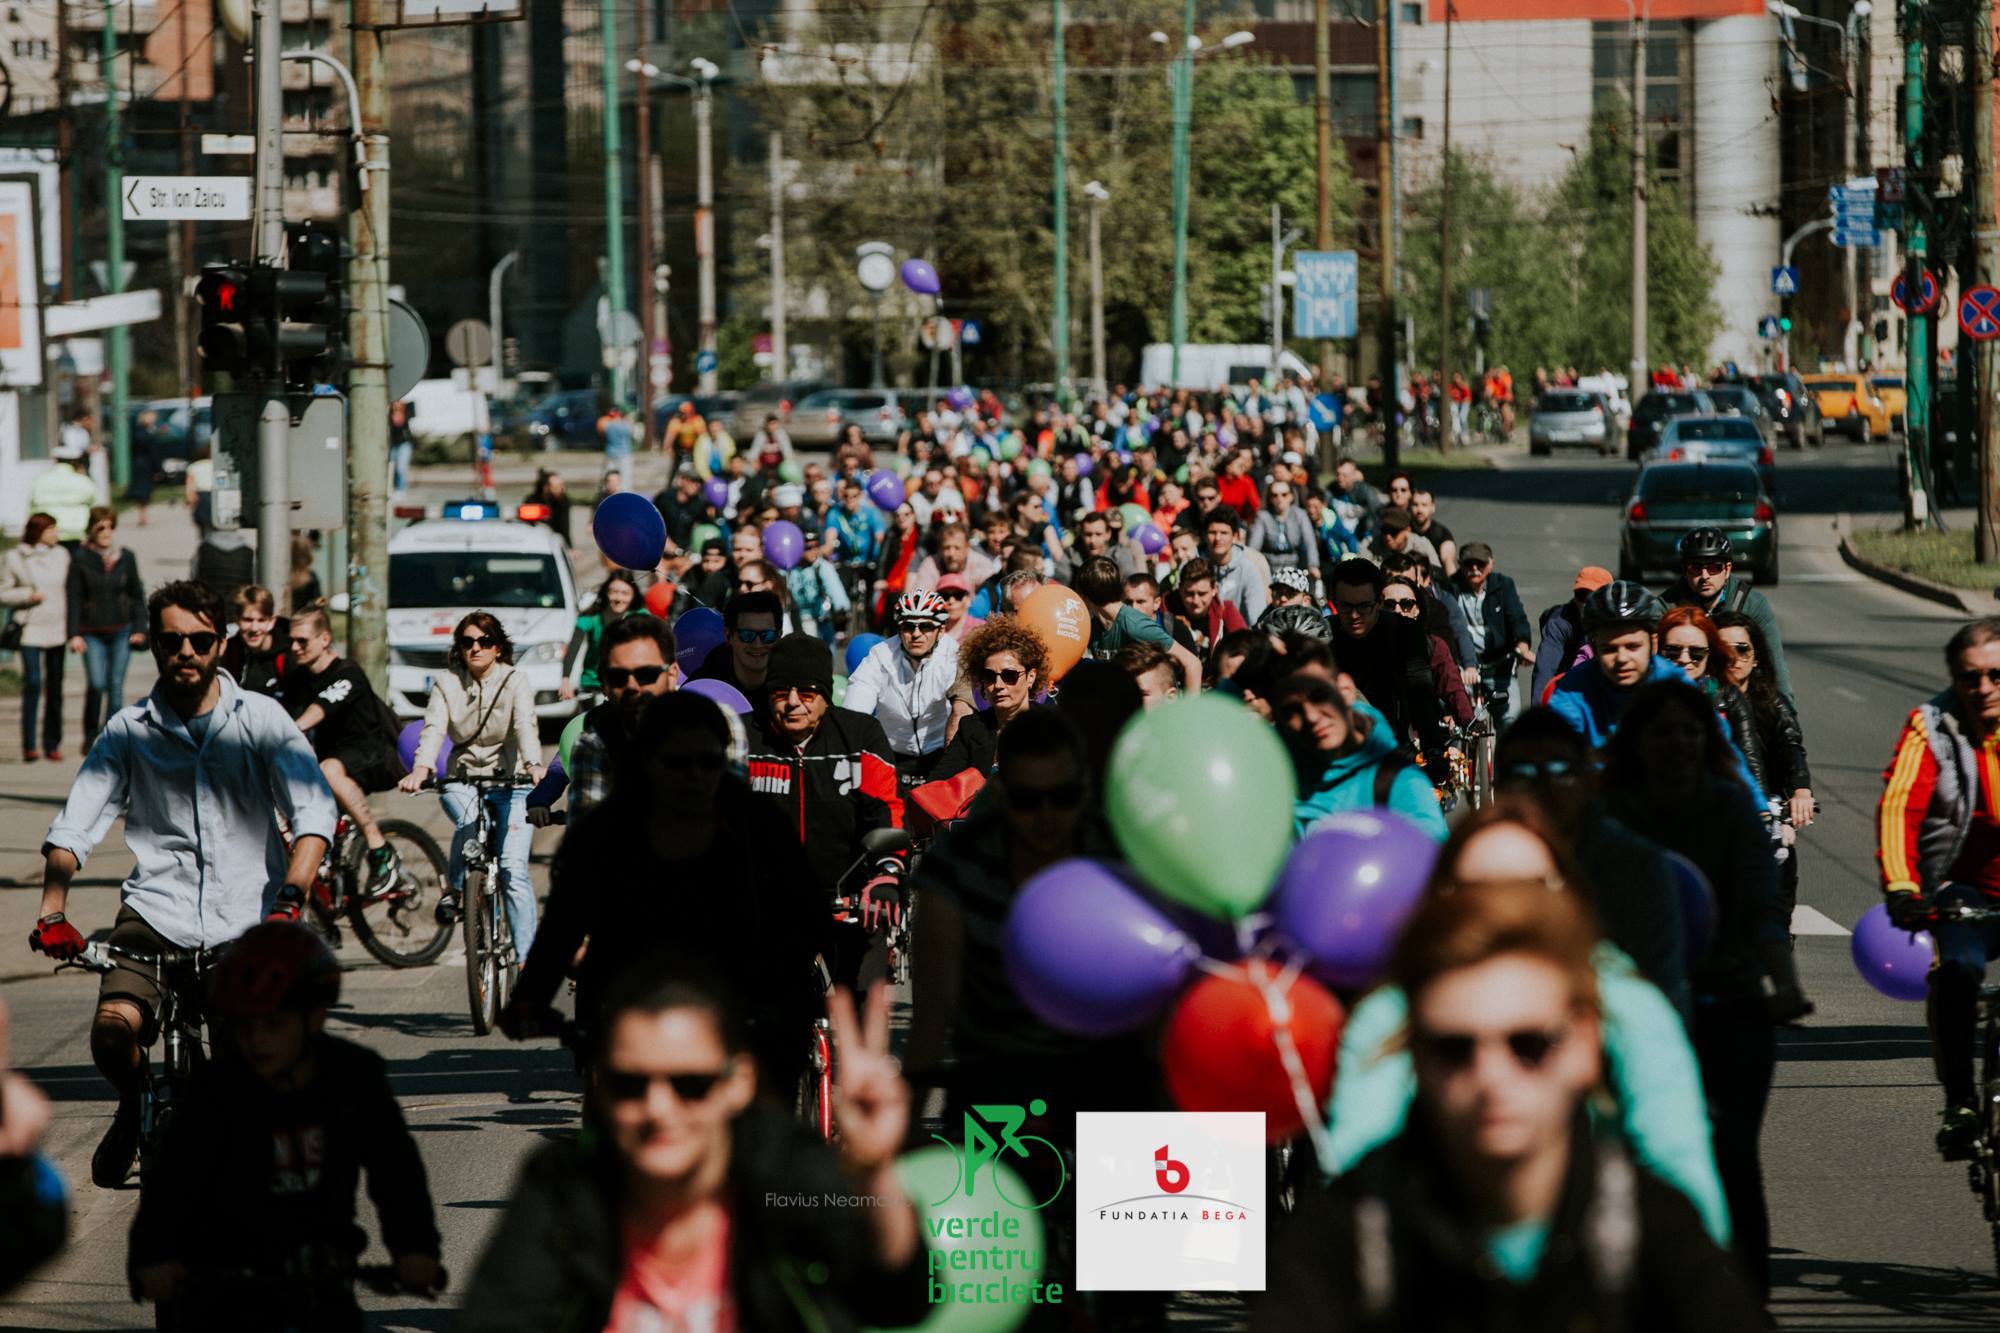
M 1484 1255 L 1470 1207 L 1422 1121 L 1332 1189 L 1308 1191 L 1270 1243 L 1262 1331 L 1752 1333 L 1754 1297 L 1694 1207 L 1622 1147 L 1578 1123 L 1570 1171 L 1534 1277 Z

